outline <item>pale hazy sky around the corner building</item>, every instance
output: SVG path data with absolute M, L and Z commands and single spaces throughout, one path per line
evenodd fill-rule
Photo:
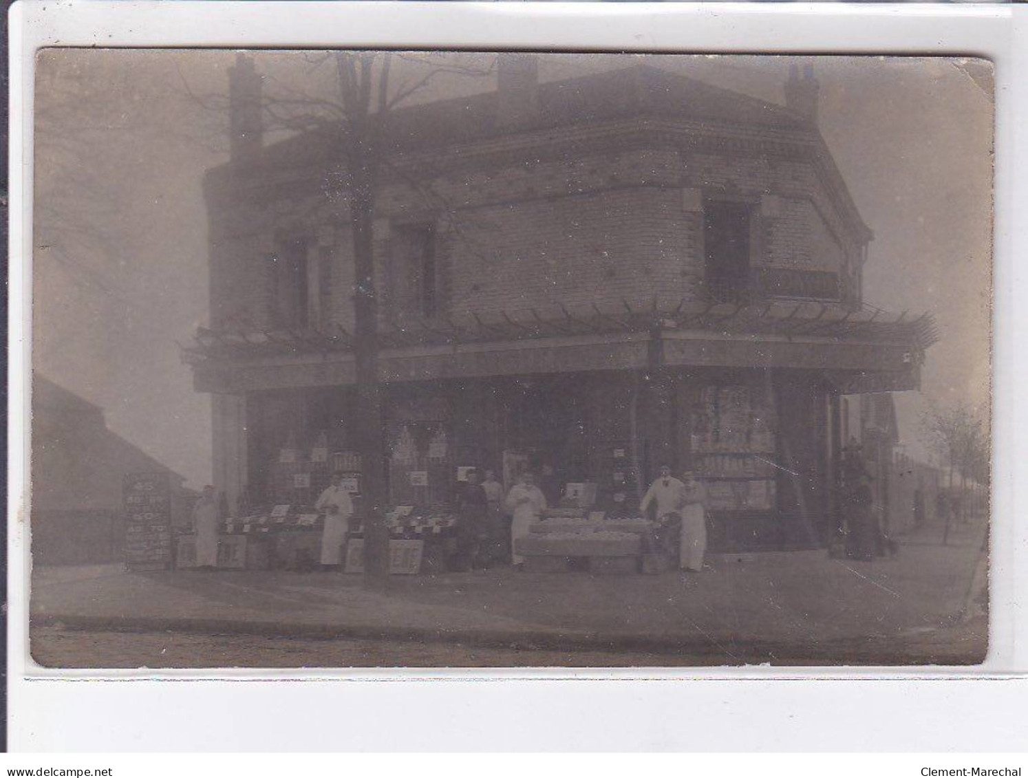
M 49 49 L 36 121 L 35 367 L 104 407 L 109 427 L 195 486 L 211 477 L 210 400 L 177 341 L 208 320 L 205 170 L 227 158 L 219 51 Z M 267 88 L 326 88 L 310 55 L 258 54 Z M 635 58 L 541 59 L 544 80 Z M 790 59 L 650 58 L 660 67 L 783 102 Z M 984 406 L 989 386 L 992 103 L 981 63 L 815 58 L 820 125 L 875 232 L 865 299 L 934 313 L 922 393 L 896 396 L 902 436 L 923 453 L 929 400 Z M 975 76 L 974 78 L 971 76 Z M 188 88 L 186 86 L 188 84 Z M 494 88 L 449 79 L 436 94 Z

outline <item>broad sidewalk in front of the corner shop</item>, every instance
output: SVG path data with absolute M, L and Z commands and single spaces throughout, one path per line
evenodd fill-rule
M 394 577 L 386 594 L 336 573 L 41 568 L 32 618 L 107 631 L 647 651 L 702 664 L 970 664 L 986 647 L 984 616 L 963 619 L 983 531 L 957 531 L 944 547 L 929 528 L 873 562 L 804 551 L 711 557 L 694 576 L 504 568 Z

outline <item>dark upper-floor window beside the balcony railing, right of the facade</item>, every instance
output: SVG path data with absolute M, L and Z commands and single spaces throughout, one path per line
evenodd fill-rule
M 751 207 L 707 200 L 703 209 L 705 287 L 714 302 L 745 303 L 749 298 Z

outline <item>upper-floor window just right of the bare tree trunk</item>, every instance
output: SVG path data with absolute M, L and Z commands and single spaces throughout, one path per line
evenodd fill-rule
M 394 313 L 431 318 L 439 312 L 435 225 L 405 224 L 393 228 L 389 303 Z

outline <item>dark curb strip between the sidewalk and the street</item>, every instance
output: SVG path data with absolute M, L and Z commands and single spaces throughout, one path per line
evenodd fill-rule
M 959 656 L 954 646 L 949 651 L 926 651 L 912 637 L 906 644 L 894 638 L 844 638 L 818 641 L 807 646 L 796 642 L 780 642 L 745 638 L 742 640 L 718 636 L 702 638 L 653 638 L 619 634 L 561 634 L 553 632 L 509 632 L 504 630 L 444 630 L 416 627 L 372 625 L 284 624 L 268 621 L 232 621 L 227 619 L 121 618 L 102 616 L 33 617 L 33 627 L 58 627 L 75 631 L 96 632 L 179 632 L 203 635 L 250 635 L 270 638 L 304 638 L 313 640 L 392 640 L 399 642 L 449 643 L 483 649 L 512 651 L 595 652 L 603 654 L 654 654 L 658 656 L 688 655 L 696 664 L 741 666 L 772 665 L 904 665 L 904 666 L 968 666 L 981 664 L 981 655 Z M 942 630 L 941 630 L 942 631 Z M 845 664 L 840 664 L 844 658 Z M 712 660 L 706 662 L 704 660 Z

